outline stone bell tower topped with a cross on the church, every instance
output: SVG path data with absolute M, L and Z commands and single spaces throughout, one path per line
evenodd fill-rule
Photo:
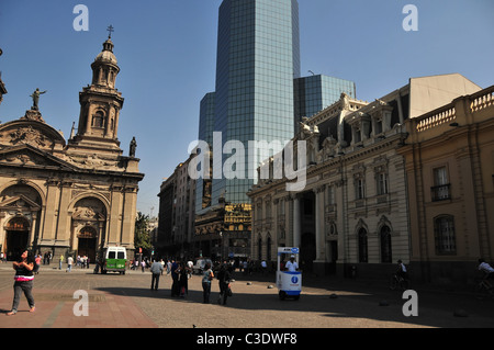
M 109 29 L 111 30 L 111 27 Z M 68 142 L 70 153 L 122 155 L 117 139 L 120 111 L 124 99 L 115 89 L 120 68 L 113 54 L 111 32 L 102 52 L 91 64 L 92 82 L 79 92 L 77 134 Z

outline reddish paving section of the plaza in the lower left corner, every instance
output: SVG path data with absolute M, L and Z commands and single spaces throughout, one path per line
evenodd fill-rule
M 22 295 L 18 314 L 7 316 L 13 298 L 13 279 L 0 273 L 0 328 L 156 328 L 157 325 L 144 314 L 131 297 L 89 290 L 89 316 L 75 316 L 74 285 L 80 285 L 74 276 L 35 276 L 33 296 L 36 311 L 29 313 Z M 61 279 L 66 279 L 60 280 Z M 87 284 L 88 285 L 88 284 Z M 50 286 L 50 287 L 48 287 Z M 92 287 L 97 287 L 94 283 Z

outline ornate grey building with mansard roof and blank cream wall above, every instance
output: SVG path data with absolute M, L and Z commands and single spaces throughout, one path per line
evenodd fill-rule
M 458 74 L 411 78 L 370 103 L 341 94 L 305 120 L 292 139 L 295 148 L 306 145 L 304 189 L 289 192 L 285 174 L 270 176 L 248 193 L 252 259 L 273 261 L 277 247 L 296 246 L 304 270 L 317 274 L 386 276 L 397 259 L 409 263 L 408 183 L 398 153 L 406 121 L 479 90 Z

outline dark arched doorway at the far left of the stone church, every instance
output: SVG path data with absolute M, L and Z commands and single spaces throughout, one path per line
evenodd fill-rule
M 14 260 L 29 247 L 30 222 L 25 217 L 13 217 L 5 225 L 7 259 Z

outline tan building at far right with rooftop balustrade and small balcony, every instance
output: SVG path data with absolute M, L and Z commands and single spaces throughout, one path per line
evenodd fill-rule
M 411 266 L 427 282 L 473 282 L 494 259 L 494 86 L 406 121 Z

